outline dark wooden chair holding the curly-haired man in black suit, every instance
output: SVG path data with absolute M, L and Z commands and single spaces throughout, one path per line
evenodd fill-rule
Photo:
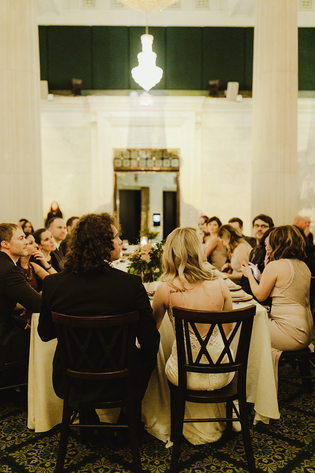
M 64 377 L 64 401 L 59 451 L 55 472 L 62 472 L 68 445 L 70 427 L 128 428 L 131 454 L 136 472 L 142 472 L 136 430 L 136 412 L 133 399 L 133 368 L 135 362 L 136 324 L 138 312 L 122 315 L 77 317 L 52 312 L 61 350 Z M 95 347 L 98 347 L 95 349 Z M 68 405 L 74 380 L 102 381 L 111 386 L 113 380 L 123 379 L 119 396 L 110 401 L 80 403 L 76 412 Z M 111 409 L 125 407 L 127 425 L 79 424 L 73 421 L 81 409 Z

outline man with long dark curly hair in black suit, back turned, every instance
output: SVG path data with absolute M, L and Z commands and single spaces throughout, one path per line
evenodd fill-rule
M 160 335 L 152 317 L 150 300 L 139 276 L 115 269 L 111 262 L 120 257 L 117 223 L 108 213 L 84 215 L 71 232 L 64 270 L 43 281 L 43 306 L 38 333 L 44 342 L 56 338 L 51 311 L 67 315 L 119 315 L 139 311 L 136 337 L 136 399 L 145 394 L 159 350 Z M 62 398 L 63 380 L 57 344 L 53 359 L 52 382 L 55 393 Z M 120 381 L 108 383 L 74 382 L 70 403 L 108 399 L 118 394 Z M 90 415 L 90 414 L 89 414 Z M 91 414 L 92 415 L 92 414 Z M 94 412 L 94 416 L 95 416 Z

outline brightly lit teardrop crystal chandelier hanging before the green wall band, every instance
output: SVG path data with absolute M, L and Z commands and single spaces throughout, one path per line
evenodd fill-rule
M 142 52 L 137 55 L 139 65 L 131 70 L 134 81 L 147 92 L 160 82 L 163 70 L 156 66 L 156 54 L 152 51 L 153 36 L 141 36 Z

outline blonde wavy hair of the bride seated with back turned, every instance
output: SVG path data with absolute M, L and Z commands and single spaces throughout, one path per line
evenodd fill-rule
M 203 246 L 196 228 L 175 228 L 165 241 L 162 257 L 164 272 L 160 280 L 173 284 L 178 277 L 183 287 L 190 289 L 189 283 L 217 279 L 204 263 L 203 256 Z

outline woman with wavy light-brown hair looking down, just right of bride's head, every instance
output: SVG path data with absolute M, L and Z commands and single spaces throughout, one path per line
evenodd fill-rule
M 248 263 L 249 254 L 252 247 L 245 241 L 234 227 L 230 225 L 222 225 L 218 231 L 218 237 L 222 244 L 227 248 L 230 263 L 225 263 L 221 271 L 229 272 L 230 280 L 240 282 L 242 277 L 241 264 L 245 261 Z

